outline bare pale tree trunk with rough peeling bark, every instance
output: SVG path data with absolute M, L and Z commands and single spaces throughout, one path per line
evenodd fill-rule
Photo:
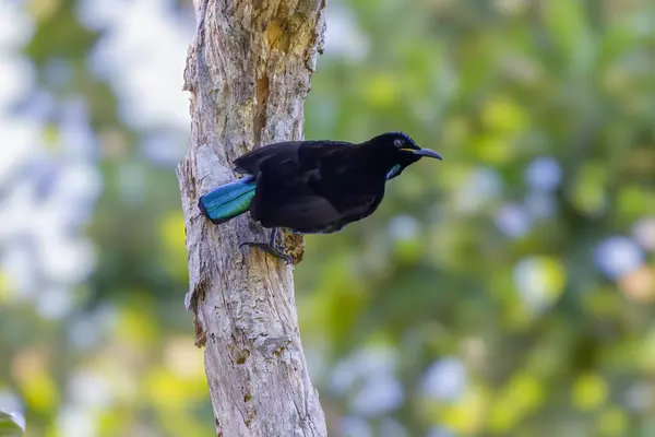
M 267 234 L 243 215 L 215 226 L 199 196 L 235 178 L 255 145 L 302 138 L 302 104 L 324 32 L 325 0 L 198 0 L 184 72 L 191 140 L 178 168 L 189 251 L 187 307 L 218 436 L 325 436 L 309 379 L 293 268 L 238 245 Z M 300 236 L 285 241 L 296 262 Z

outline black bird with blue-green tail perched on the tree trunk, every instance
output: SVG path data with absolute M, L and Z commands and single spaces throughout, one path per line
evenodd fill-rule
M 275 244 L 278 227 L 298 234 L 330 234 L 372 214 L 384 184 L 421 157 L 442 160 L 403 132 L 354 144 L 345 141 L 288 141 L 255 149 L 235 160 L 242 179 L 201 196 L 199 208 L 214 224 L 250 211 L 271 241 L 248 241 L 289 262 Z

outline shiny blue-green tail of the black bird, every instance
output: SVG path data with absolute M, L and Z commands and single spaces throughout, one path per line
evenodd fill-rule
M 252 176 L 235 180 L 201 196 L 198 206 L 212 223 L 225 223 L 248 211 L 255 188 Z

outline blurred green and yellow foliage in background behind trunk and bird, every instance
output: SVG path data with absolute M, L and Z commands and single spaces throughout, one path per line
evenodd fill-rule
M 29 436 L 88 422 L 99 436 L 213 435 L 177 180 L 143 156 L 152 132 L 119 117 L 118 91 L 90 67 L 104 31 L 79 5 L 25 2 L 24 54 L 35 88 L 90 110 L 104 188 L 83 233 L 97 262 L 60 320 L 0 271 L 0 390 L 25 403 Z M 330 435 L 655 435 L 655 4 L 329 12 L 341 24 L 306 137 L 403 130 L 445 157 L 390 182 L 365 222 L 307 237 L 296 293 Z M 70 80 L 48 79 L 55 61 Z M 59 121 L 39 132 L 53 156 Z M 126 194 L 130 177 L 141 196 Z M 99 334 L 75 345 L 90 327 Z

